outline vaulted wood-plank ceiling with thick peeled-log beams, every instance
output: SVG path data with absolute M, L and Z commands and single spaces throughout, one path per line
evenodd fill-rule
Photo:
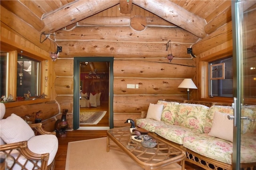
M 46 34 L 79 22 L 95 26 L 94 22 L 98 20 L 97 23 L 102 25 L 123 25 L 127 24 L 126 20 L 129 18 L 129 24 L 138 24 L 142 27 L 174 24 L 199 38 L 204 38 L 211 33 L 211 25 L 208 23 L 219 13 L 226 10 L 226 15 L 231 16 L 231 2 L 227 0 L 25 0 L 1 1 L 1 5 L 39 32 Z M 106 18 L 89 20 L 92 16 L 108 17 L 112 22 L 104 23 L 103 19 L 106 22 Z M 124 20 L 113 18 L 117 16 L 124 17 Z M 135 23 L 132 23 L 130 18 L 136 16 Z M 140 20 L 138 16 L 146 18 Z M 83 21 L 84 19 L 87 20 Z M 143 22 L 146 22 L 146 25 Z M 140 29 L 140 26 L 134 26 L 134 28 Z

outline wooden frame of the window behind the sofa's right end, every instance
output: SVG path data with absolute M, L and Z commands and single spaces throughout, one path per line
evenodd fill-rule
M 227 102 L 227 103 L 230 103 L 233 101 L 232 97 L 217 97 L 217 96 L 210 97 L 209 96 L 209 90 L 210 90 L 209 89 L 209 83 L 210 83 L 209 63 L 212 61 L 216 61 L 218 59 L 226 58 L 230 55 L 232 55 L 232 48 L 224 49 L 199 59 L 198 68 L 200 68 L 199 77 L 201 77 L 200 79 L 201 90 L 199 92 L 200 100 L 212 101 L 212 102 Z

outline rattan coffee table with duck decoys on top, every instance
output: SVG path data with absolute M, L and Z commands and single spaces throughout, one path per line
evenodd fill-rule
M 156 139 L 158 144 L 154 148 L 146 148 L 140 142 L 132 140 L 131 136 L 130 127 L 107 130 L 107 152 L 110 147 L 121 148 L 145 170 L 160 168 L 176 162 L 181 162 L 182 170 L 184 170 L 186 153 L 181 148 L 173 146 L 157 136 L 152 136 L 152 138 Z M 110 139 L 117 146 L 111 145 Z

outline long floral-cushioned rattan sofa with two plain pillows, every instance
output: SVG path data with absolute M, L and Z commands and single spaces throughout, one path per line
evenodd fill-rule
M 256 105 L 243 106 L 241 163 L 256 168 Z M 137 127 L 161 136 L 186 152 L 185 160 L 204 169 L 232 169 L 233 115 L 231 104 L 159 100 L 136 120 Z

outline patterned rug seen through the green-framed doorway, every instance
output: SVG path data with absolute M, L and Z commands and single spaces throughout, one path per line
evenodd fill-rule
M 80 124 L 96 125 L 106 113 L 107 111 L 80 112 Z

